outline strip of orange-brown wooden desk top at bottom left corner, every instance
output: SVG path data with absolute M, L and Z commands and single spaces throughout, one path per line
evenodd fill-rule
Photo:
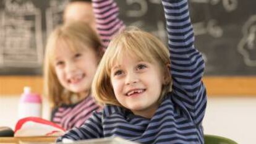
M 20 143 L 20 142 L 55 142 L 57 137 L 0 137 L 2 143 Z

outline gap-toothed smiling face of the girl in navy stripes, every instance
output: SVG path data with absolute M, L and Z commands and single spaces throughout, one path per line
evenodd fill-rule
M 158 108 L 164 75 L 157 62 L 139 61 L 124 54 L 111 68 L 111 83 L 117 101 L 134 114 L 151 118 Z

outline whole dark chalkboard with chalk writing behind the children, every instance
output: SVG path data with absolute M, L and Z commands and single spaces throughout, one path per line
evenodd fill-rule
M 0 74 L 41 75 L 46 37 L 67 0 L 1 0 Z M 121 19 L 167 44 L 160 0 L 116 0 Z M 189 0 L 206 75 L 256 75 L 256 1 Z

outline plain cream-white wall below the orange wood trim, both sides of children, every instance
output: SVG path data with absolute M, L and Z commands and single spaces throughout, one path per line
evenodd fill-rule
M 14 129 L 19 96 L 0 96 L 0 126 Z M 221 135 L 239 144 L 256 142 L 256 96 L 210 96 L 203 121 L 205 133 Z

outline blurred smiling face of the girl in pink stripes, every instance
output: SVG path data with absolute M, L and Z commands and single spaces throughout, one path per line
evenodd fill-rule
M 91 48 L 71 51 L 67 44 L 56 48 L 54 69 L 62 87 L 80 95 L 88 95 L 98 66 L 98 57 Z

